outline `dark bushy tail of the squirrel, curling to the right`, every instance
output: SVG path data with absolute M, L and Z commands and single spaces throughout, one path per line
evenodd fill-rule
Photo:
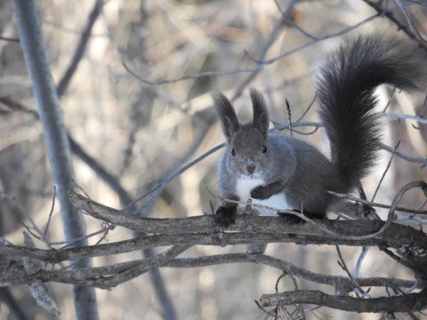
M 415 50 L 389 36 L 359 36 L 343 44 L 320 68 L 319 115 L 331 143 L 332 162 L 354 188 L 375 160 L 380 130 L 373 116 L 375 88 L 418 89 L 423 65 Z

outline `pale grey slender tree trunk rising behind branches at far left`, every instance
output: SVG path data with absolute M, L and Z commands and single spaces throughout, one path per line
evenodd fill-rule
M 85 221 L 68 201 L 73 168 L 64 128 L 60 101 L 52 81 L 44 50 L 44 39 L 36 4 L 33 0 L 14 0 L 15 14 L 20 30 L 20 45 L 27 63 L 36 96 L 38 113 L 44 127 L 44 139 L 52 168 L 53 179 L 60 202 L 60 212 L 67 241 L 85 236 Z M 81 241 L 79 244 L 87 244 Z M 74 268 L 89 268 L 91 260 L 77 260 Z M 77 319 L 98 319 L 95 290 L 88 286 L 74 286 Z

